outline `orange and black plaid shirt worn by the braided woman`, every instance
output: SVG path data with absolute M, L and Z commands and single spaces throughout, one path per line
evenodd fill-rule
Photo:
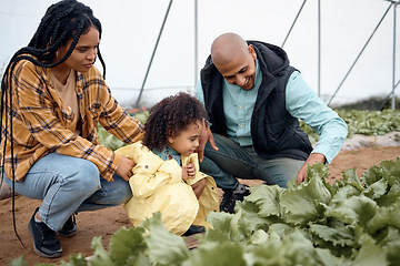
M 0 152 L 3 152 L 6 136 L 3 167 L 9 178 L 12 176 L 11 132 L 4 115 L 12 117 L 16 181 L 22 181 L 34 162 L 51 152 L 89 160 L 97 165 L 102 177 L 112 181 L 122 156 L 100 145 L 98 123 L 124 143 L 142 139 L 143 126 L 119 106 L 97 68 L 86 73 L 77 72 L 76 80 L 80 136 L 73 134 L 76 114 L 51 85 L 50 69 L 36 66 L 27 60 L 18 62 L 12 74 L 12 105 L 3 114 L 1 129 Z

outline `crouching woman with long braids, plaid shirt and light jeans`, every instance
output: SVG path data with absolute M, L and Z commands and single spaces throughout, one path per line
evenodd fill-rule
M 1 98 L 1 168 L 17 193 L 42 200 L 28 224 L 33 248 L 59 257 L 58 234 L 77 232 L 73 214 L 120 205 L 131 197 L 134 162 L 101 146 L 100 123 L 126 143 L 142 125 L 111 96 L 93 66 L 100 21 L 76 0 L 52 4 L 29 45 L 8 64 Z

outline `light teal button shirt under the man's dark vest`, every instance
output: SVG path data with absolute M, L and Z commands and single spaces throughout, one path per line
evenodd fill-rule
M 256 59 L 254 86 L 246 91 L 238 85 L 223 84 L 223 112 L 228 127 L 228 137 L 241 146 L 252 145 L 251 114 L 262 81 L 261 70 Z M 196 96 L 204 104 L 201 81 L 196 86 Z M 319 142 L 312 153 L 321 153 L 327 163 L 331 163 L 343 145 L 348 129 L 337 112 L 330 109 L 294 71 L 286 89 L 286 109 L 294 117 L 302 120 L 319 134 Z

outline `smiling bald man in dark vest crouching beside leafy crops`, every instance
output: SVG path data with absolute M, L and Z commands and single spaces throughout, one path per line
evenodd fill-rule
M 249 194 L 236 177 L 287 187 L 297 176 L 301 183 L 307 166 L 330 163 L 347 137 L 344 121 L 289 65 L 282 49 L 236 33 L 213 41 L 196 95 L 210 116 L 200 168 L 224 191 L 224 212 Z M 319 133 L 314 149 L 299 119 Z

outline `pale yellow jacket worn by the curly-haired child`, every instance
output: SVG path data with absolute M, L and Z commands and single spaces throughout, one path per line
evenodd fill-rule
M 163 161 L 141 142 L 121 147 L 117 153 L 137 163 L 129 180 L 133 195 L 124 204 L 133 226 L 156 212 L 161 213 L 167 229 L 177 235 L 187 232 L 192 224 L 211 226 L 206 217 L 210 212 L 219 212 L 217 185 L 211 176 L 199 172 L 197 153 L 181 157 L 183 166 L 191 162 L 197 170 L 196 178 L 188 178 L 187 183 L 176 160 Z M 207 185 L 198 200 L 190 184 L 202 178 L 206 178 Z

